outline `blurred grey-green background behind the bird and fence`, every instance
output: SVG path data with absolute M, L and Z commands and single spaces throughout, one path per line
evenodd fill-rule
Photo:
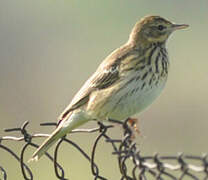
M 0 136 L 4 128 L 30 121 L 33 133 L 49 133 L 40 122 L 56 121 L 85 80 L 115 48 L 125 43 L 145 15 L 161 15 L 190 28 L 168 41 L 171 71 L 165 91 L 140 118 L 143 154 L 201 155 L 208 152 L 207 0 L 7 0 L 0 1 Z M 90 123 L 85 127 L 94 127 Z M 113 131 L 120 136 L 120 129 Z M 8 135 L 8 134 L 7 134 Z M 90 153 L 95 135 L 72 135 Z M 42 140 L 36 141 L 38 143 Z M 7 143 L 20 150 L 21 143 Z M 27 151 L 29 159 L 32 151 Z M 111 146 L 96 155 L 101 175 L 120 179 Z M 70 179 L 93 179 L 89 163 L 69 145 L 60 162 Z M 110 163 L 109 163 L 110 162 Z M 20 168 L 0 149 L 8 179 L 23 179 Z M 34 179 L 55 180 L 46 158 L 31 163 Z

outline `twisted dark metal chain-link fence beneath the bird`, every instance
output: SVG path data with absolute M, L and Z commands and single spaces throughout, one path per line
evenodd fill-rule
M 105 139 L 106 143 L 112 145 L 112 154 L 117 157 L 118 166 L 120 169 L 120 180 L 208 180 L 208 155 L 194 156 L 178 154 L 173 156 L 161 156 L 154 154 L 150 156 L 142 156 L 137 144 L 133 141 L 134 132 L 128 122 L 120 123 L 111 120 L 113 123 L 118 123 L 123 127 L 123 137 L 114 139 L 108 135 L 108 131 L 113 125 L 104 125 L 98 123 L 98 127 L 94 129 L 77 129 L 73 133 L 94 133 L 100 132 L 94 140 L 91 154 L 88 155 L 80 146 L 63 137 L 56 145 L 54 155 L 46 153 L 46 156 L 54 165 L 54 171 L 57 179 L 67 180 L 65 177 L 64 168 L 58 163 L 58 150 L 63 142 L 71 144 L 80 152 L 89 162 L 94 180 L 107 180 L 106 177 L 100 174 L 99 165 L 95 163 L 95 154 L 97 151 L 98 142 Z M 18 131 L 21 137 L 4 136 L 0 137 L 0 150 L 6 151 L 10 156 L 15 158 L 21 167 L 21 172 L 25 180 L 33 180 L 33 172 L 24 161 L 25 150 L 29 147 L 37 148 L 38 145 L 32 142 L 32 139 L 39 137 L 48 137 L 48 134 L 31 135 L 27 131 L 29 122 L 26 121 L 20 128 L 5 129 L 6 132 Z M 43 123 L 42 126 L 56 126 L 56 123 Z M 24 141 L 20 155 L 9 148 L 7 141 Z M 129 165 L 131 163 L 131 165 Z M 115 165 L 117 166 L 117 165 Z M 0 164 L 0 180 L 7 180 L 7 171 Z M 70 179 L 70 178 L 69 178 Z

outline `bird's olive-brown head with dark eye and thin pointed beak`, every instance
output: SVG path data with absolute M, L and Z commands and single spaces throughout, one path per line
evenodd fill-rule
M 162 43 L 175 30 L 187 27 L 187 24 L 175 24 L 160 16 L 147 16 L 136 23 L 129 40 L 135 43 Z

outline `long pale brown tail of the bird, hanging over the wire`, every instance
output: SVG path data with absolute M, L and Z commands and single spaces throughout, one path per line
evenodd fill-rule
M 86 120 L 82 118 L 75 118 L 73 114 L 67 120 L 63 120 L 55 131 L 43 142 L 43 144 L 34 152 L 30 161 L 37 161 L 46 151 L 56 142 L 58 139 L 62 138 L 67 133 L 71 132 L 73 129 L 77 128 L 81 124 L 85 123 Z

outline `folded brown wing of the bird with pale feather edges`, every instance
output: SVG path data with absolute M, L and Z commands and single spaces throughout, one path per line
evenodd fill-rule
M 128 55 L 128 52 L 129 46 L 123 46 L 111 53 L 75 95 L 72 102 L 60 115 L 59 121 L 63 120 L 71 111 L 86 104 L 94 90 L 108 88 L 117 82 L 120 79 L 119 66 L 122 59 L 125 59 L 126 55 Z

